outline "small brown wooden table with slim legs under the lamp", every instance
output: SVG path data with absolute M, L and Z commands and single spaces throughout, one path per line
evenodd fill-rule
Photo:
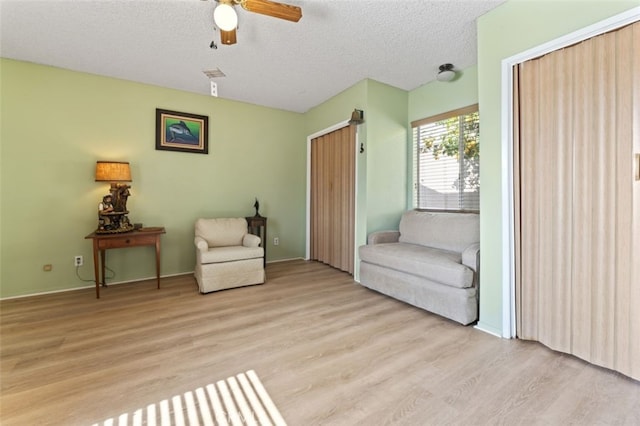
M 96 279 L 96 298 L 100 299 L 100 284 L 107 286 L 104 275 L 105 252 L 108 249 L 138 247 L 138 246 L 155 246 L 156 247 L 156 279 L 158 288 L 160 288 L 160 236 L 166 231 L 163 227 L 142 228 L 140 230 L 123 232 L 121 234 L 91 234 L 84 237 L 93 240 L 93 271 Z M 98 253 L 100 259 L 98 259 Z M 100 279 L 102 272 L 102 280 Z

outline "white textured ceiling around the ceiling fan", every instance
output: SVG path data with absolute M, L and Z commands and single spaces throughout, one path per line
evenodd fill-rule
M 224 46 L 214 0 L 0 0 L 0 55 L 305 112 L 371 78 L 404 90 L 476 64 L 476 18 L 504 0 L 285 0 L 292 23 L 236 7 Z M 209 47 L 212 40 L 217 49 Z

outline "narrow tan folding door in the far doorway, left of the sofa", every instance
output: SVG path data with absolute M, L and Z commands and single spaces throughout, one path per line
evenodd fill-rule
M 353 274 L 356 126 L 311 141 L 310 254 Z

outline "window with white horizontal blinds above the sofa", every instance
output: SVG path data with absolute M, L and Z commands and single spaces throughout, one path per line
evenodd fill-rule
M 416 208 L 479 211 L 478 105 L 418 120 L 411 126 Z

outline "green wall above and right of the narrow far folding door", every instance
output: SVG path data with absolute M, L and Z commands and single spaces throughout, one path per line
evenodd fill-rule
M 364 152 L 358 162 L 357 240 L 366 234 L 397 228 L 407 205 L 407 112 L 409 94 L 405 90 L 363 80 L 307 112 L 309 135 L 348 120 L 354 108 L 364 111 L 358 126 L 358 142 Z

